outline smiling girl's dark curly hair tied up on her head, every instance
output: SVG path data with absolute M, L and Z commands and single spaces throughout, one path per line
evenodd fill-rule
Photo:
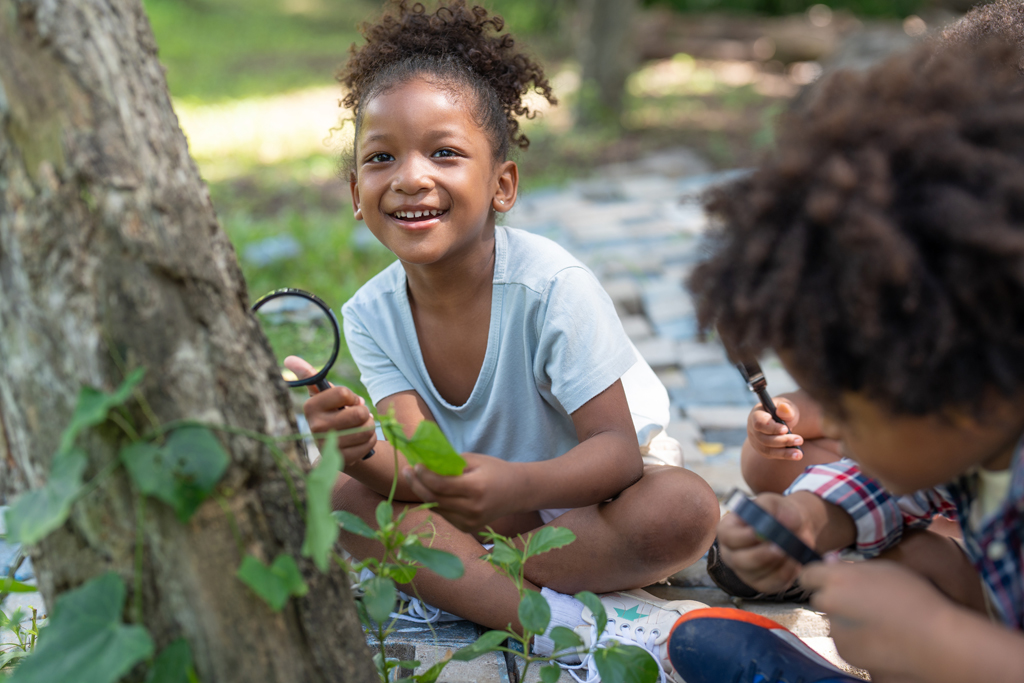
M 342 104 L 355 114 L 359 129 L 362 110 L 382 92 L 427 74 L 447 86 L 468 87 L 476 97 L 477 120 L 488 134 L 495 157 L 505 159 L 510 145 L 526 148 L 517 117 L 534 118 L 523 103 L 536 88 L 552 104 L 551 85 L 541 66 L 514 49 L 505 22 L 465 0 L 441 4 L 433 13 L 422 3 L 396 0 L 375 25 L 364 25 L 367 42 L 352 45 L 338 80 L 348 88 Z

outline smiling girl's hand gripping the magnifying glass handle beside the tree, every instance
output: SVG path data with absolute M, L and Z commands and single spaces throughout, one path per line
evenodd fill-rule
M 309 377 L 316 372 L 312 366 L 295 355 L 285 358 L 285 367 L 299 378 Z M 345 465 L 360 462 L 377 445 L 377 426 L 362 396 L 345 386 L 331 387 L 327 391 L 321 391 L 311 385 L 307 388 L 309 399 L 303 403 L 302 412 L 309 423 L 309 431 L 313 434 L 366 427 L 366 431 L 338 437 L 338 450 L 345 459 Z

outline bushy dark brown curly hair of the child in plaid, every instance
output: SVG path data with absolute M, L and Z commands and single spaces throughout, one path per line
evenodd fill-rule
M 1024 391 L 1024 80 L 1007 43 L 839 72 L 718 190 L 703 327 L 785 351 L 834 409 L 980 411 Z

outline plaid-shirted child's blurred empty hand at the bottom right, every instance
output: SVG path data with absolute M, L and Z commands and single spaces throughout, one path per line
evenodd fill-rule
M 929 637 L 930 628 L 942 624 L 953 604 L 927 580 L 895 562 L 871 560 L 815 562 L 800 583 L 814 592 L 811 605 L 828 615 L 844 659 L 870 671 L 872 680 L 936 680 L 926 672 L 943 647 L 941 635 Z

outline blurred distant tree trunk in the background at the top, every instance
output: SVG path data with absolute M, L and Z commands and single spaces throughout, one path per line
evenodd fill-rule
M 580 124 L 620 125 L 626 78 L 636 62 L 630 44 L 636 4 L 637 0 L 580 0 Z

